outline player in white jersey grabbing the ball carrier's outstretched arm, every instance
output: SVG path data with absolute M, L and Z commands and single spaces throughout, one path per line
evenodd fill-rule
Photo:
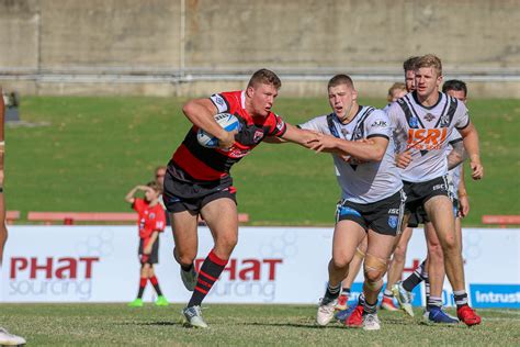
M 334 112 L 299 125 L 323 134 L 310 148 L 332 154 L 341 187 L 328 286 L 319 304 L 317 322 L 326 325 L 334 318 L 341 281 L 348 275 L 358 245 L 366 236 L 363 267 L 365 299 L 346 324 L 380 329 L 377 294 L 400 231 L 405 200 L 403 182 L 395 166 L 391 123 L 383 111 L 358 104 L 358 92 L 346 75 L 330 79 L 328 97 Z

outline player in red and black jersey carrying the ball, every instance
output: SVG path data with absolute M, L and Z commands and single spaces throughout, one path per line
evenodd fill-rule
M 222 92 L 207 99 L 194 99 L 182 109 L 193 123 L 168 164 L 163 202 L 170 213 L 181 278 L 193 294 L 183 310 L 191 326 L 207 327 L 201 303 L 221 276 L 238 239 L 236 189 L 229 169 L 267 136 L 305 145 L 316 134 L 285 123 L 271 111 L 281 87 L 271 70 L 256 71 L 246 90 Z M 240 131 L 227 132 L 214 120 L 218 113 L 231 113 L 241 123 Z M 196 141 L 199 128 L 218 138 L 218 148 L 206 148 Z M 210 227 L 214 248 L 195 272 L 197 217 Z

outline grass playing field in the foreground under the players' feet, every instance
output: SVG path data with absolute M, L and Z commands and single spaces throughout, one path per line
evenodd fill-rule
M 482 325 L 467 328 L 422 323 L 382 312 L 382 329 L 315 324 L 316 307 L 208 305 L 210 329 L 182 326 L 180 305 L 129 309 L 124 304 L 1 304 L 0 322 L 33 346 L 519 346 L 520 312 L 482 310 Z M 453 312 L 451 312 L 453 314 Z

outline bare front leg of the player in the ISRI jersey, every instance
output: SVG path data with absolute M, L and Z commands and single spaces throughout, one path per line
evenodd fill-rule
M 455 233 L 455 219 L 451 200 L 444 195 L 429 199 L 425 203 L 428 217 L 433 223 L 439 243 L 444 254 L 444 266 L 453 291 L 465 291 L 464 268 L 461 245 Z M 431 266 L 430 266 L 431 267 Z M 430 286 L 433 288 L 433 278 Z M 437 284 L 436 284 L 437 286 Z

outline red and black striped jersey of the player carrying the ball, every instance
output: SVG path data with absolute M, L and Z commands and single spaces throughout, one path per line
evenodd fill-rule
M 231 148 L 224 150 L 201 146 L 196 141 L 199 127 L 193 125 L 172 157 L 177 179 L 192 182 L 227 180 L 231 166 L 247 156 L 265 136 L 282 136 L 286 131 L 285 122 L 273 112 L 267 117 L 252 117 L 246 111 L 245 91 L 222 92 L 210 99 L 218 113 L 237 116 L 240 131 L 235 135 Z

